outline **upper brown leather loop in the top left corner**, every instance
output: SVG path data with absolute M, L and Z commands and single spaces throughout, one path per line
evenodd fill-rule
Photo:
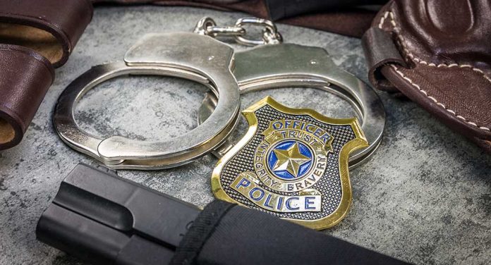
M 0 43 L 37 51 L 59 67 L 92 19 L 88 0 L 0 0 Z

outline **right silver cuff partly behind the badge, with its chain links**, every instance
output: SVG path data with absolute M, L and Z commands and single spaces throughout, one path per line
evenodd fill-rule
M 369 147 L 351 154 L 350 167 L 359 164 L 375 152 L 382 140 L 385 127 L 384 106 L 377 93 L 351 73 L 336 66 L 325 49 L 282 43 L 277 27 L 269 20 L 242 19 L 238 20 L 236 26 L 240 27 L 245 23 L 244 21 L 264 26 L 265 29 L 262 40 L 259 41 L 236 37 L 236 42 L 239 44 L 257 45 L 253 49 L 235 54 L 236 63 L 233 73 L 240 93 L 281 87 L 311 87 L 337 94 L 356 110 L 370 144 Z M 200 28 L 200 25 L 206 24 L 205 22 L 210 24 L 207 35 L 217 37 L 217 32 L 220 32 L 217 30 L 219 27 L 210 18 L 202 18 L 195 32 L 207 32 Z M 200 107 L 198 123 L 207 120 L 216 104 L 217 97 L 207 93 Z M 220 158 L 233 146 L 230 140 L 226 140 L 226 143 L 217 148 L 213 154 Z

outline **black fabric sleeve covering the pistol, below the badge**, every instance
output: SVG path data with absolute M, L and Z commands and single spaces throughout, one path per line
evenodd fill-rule
M 406 264 L 269 214 L 216 200 L 171 264 Z

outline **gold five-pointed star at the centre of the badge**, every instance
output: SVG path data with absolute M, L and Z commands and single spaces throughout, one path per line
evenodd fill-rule
M 274 149 L 277 156 L 277 162 L 274 164 L 273 171 L 288 171 L 293 177 L 298 177 L 298 169 L 311 159 L 301 154 L 298 148 L 298 142 L 292 144 L 289 149 Z

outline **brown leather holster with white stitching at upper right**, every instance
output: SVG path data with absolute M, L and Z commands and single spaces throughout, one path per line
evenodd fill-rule
M 363 36 L 369 79 L 491 152 L 491 1 L 392 0 Z

